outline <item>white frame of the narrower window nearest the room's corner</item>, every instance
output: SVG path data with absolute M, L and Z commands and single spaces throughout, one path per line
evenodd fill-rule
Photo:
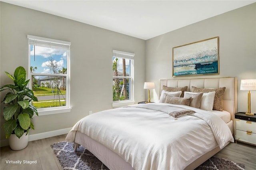
M 130 79 L 130 92 L 129 92 L 130 99 L 129 100 L 122 100 L 122 101 L 113 101 L 112 100 L 112 106 L 113 107 L 134 104 L 134 56 L 135 56 L 134 53 L 113 50 L 112 60 L 113 60 L 113 57 L 124 58 L 124 59 L 129 59 L 130 60 L 130 76 L 114 76 L 113 71 L 112 71 L 112 79 L 114 79 L 114 78 Z M 112 63 L 112 67 L 113 67 L 113 63 Z

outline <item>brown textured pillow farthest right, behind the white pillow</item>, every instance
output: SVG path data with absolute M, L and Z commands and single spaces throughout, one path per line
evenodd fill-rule
M 213 109 L 217 111 L 223 111 L 223 95 L 225 90 L 226 90 L 226 87 L 220 87 L 216 89 L 201 89 L 201 88 L 192 86 L 191 88 L 191 92 L 195 92 L 195 93 L 199 93 L 199 92 L 208 93 L 208 92 L 215 91 L 216 93 L 214 97 Z

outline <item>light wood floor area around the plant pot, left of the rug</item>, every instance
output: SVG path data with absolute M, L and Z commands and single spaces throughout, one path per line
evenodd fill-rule
M 66 134 L 28 142 L 23 150 L 13 151 L 9 146 L 1 147 L 0 170 L 62 170 L 51 144 L 64 141 Z M 36 164 L 7 164 L 6 160 L 36 160 Z

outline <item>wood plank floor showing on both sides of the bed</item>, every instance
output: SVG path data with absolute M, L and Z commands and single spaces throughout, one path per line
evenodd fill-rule
M 1 147 L 0 170 L 62 170 L 50 144 L 64 141 L 66 134 L 34 140 L 19 151 L 13 151 L 9 146 Z M 256 170 L 256 146 L 239 142 L 230 143 L 216 154 L 219 158 L 244 163 L 246 170 Z M 6 160 L 36 160 L 36 164 L 7 164 Z

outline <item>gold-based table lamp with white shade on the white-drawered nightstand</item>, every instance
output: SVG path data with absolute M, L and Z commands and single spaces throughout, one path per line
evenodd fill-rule
M 246 115 L 254 116 L 254 113 L 251 113 L 251 93 L 250 90 L 256 90 L 256 79 L 246 79 L 241 80 L 240 90 L 248 90 L 248 110 L 245 113 Z

